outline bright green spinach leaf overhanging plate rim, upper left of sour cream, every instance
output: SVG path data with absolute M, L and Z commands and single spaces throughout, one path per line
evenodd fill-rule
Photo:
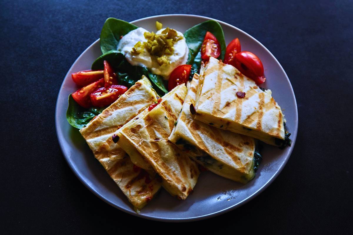
M 120 37 L 137 28 L 136 25 L 130 24 L 124 20 L 108 18 L 103 25 L 99 41 L 102 53 L 104 54 L 110 50 L 116 50 Z

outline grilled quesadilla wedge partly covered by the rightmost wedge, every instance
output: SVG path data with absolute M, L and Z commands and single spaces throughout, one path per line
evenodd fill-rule
M 255 140 L 195 120 L 190 105 L 195 104 L 198 83 L 194 74 L 169 140 L 209 171 L 245 184 L 255 176 Z

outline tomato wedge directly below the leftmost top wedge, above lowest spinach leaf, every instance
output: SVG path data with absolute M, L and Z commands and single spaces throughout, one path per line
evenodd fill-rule
M 104 86 L 104 79 L 100 79 L 98 81 L 92 82 L 91 84 L 82 87 L 72 93 L 72 98 L 79 104 L 80 106 L 88 109 L 92 107 L 92 102 L 90 98 L 90 94 L 94 92 L 97 88 Z

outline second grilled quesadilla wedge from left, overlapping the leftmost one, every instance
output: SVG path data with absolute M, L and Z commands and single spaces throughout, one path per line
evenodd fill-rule
M 187 92 L 184 84 L 162 97 L 151 111 L 144 110 L 117 132 L 119 145 L 146 160 L 162 178 L 172 196 L 186 199 L 197 182 L 197 163 L 168 141 Z

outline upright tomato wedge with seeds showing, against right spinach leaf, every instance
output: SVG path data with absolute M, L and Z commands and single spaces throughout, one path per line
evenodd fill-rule
M 221 55 L 221 45 L 217 38 L 207 31 L 201 45 L 201 58 L 208 61 L 210 57 L 218 58 Z

